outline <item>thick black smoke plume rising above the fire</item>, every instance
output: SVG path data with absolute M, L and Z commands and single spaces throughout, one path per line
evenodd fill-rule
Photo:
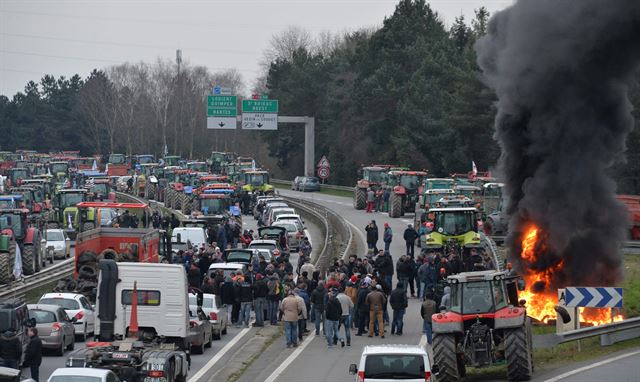
M 633 127 L 640 1 L 520 0 L 495 14 L 476 51 L 498 96 L 512 261 L 553 270 L 553 287 L 615 284 L 628 215 L 607 169 Z M 547 241 L 525 264 L 513 254 L 532 223 Z

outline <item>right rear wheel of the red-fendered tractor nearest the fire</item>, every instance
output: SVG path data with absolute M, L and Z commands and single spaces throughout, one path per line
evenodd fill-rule
M 504 354 L 507 359 L 507 378 L 510 381 L 528 381 L 533 375 L 533 353 L 531 351 L 528 325 L 507 329 L 504 336 Z

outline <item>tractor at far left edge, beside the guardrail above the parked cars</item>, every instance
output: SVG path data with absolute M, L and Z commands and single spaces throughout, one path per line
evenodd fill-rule
M 29 210 L 0 210 L 0 284 L 13 277 L 18 249 L 22 258 L 22 273 L 32 275 L 44 266 L 40 231 L 30 226 Z

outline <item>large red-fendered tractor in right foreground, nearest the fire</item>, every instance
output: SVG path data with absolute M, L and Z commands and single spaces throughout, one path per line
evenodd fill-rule
M 432 316 L 438 382 L 459 381 L 467 367 L 506 363 L 511 381 L 533 375 L 531 318 L 518 301 L 524 282 L 500 271 L 447 277 L 451 306 Z

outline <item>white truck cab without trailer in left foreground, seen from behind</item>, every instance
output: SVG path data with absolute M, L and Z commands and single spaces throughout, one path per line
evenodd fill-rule
M 202 293 L 198 314 L 201 306 Z M 186 382 L 191 323 L 181 265 L 101 260 L 96 317 L 97 341 L 70 353 L 68 367 L 108 369 L 127 382 Z

